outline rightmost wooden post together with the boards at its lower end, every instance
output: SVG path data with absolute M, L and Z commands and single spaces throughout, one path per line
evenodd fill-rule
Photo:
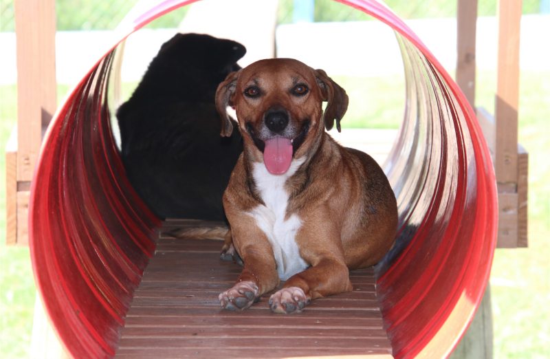
M 518 148 L 521 0 L 498 1 L 498 66 L 495 98 L 495 174 L 498 246 L 527 246 L 528 154 Z

